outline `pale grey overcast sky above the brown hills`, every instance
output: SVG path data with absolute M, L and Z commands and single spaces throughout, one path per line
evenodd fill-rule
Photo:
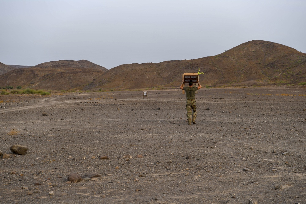
M 250 40 L 306 53 L 305 0 L 0 0 L 0 62 L 214 56 Z

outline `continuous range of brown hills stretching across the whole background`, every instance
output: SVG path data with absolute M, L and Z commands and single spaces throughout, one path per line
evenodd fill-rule
M 297 84 L 305 82 L 306 54 L 291 47 L 253 40 L 221 54 L 193 60 L 125 64 L 110 70 L 86 60 L 51 61 L 0 75 L 0 86 L 45 90 L 128 90 L 178 87 L 185 72 L 204 72 L 208 86 Z M 0 67 L 1 68 L 1 67 Z

